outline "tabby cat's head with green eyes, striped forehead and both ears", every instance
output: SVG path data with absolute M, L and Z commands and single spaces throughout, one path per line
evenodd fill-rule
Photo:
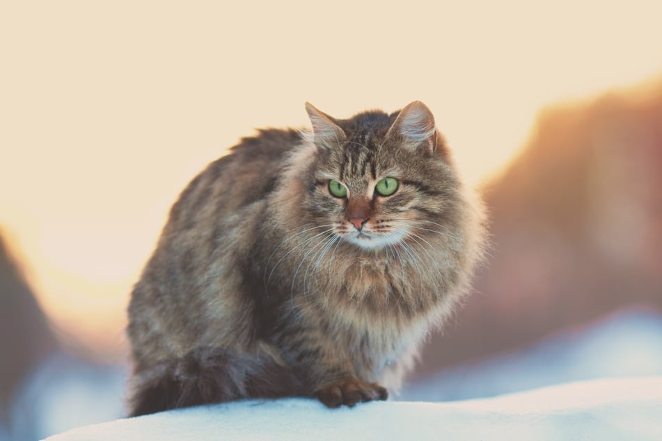
M 306 104 L 315 160 L 305 173 L 308 221 L 339 240 L 379 250 L 443 234 L 459 184 L 427 106 L 338 120 Z

